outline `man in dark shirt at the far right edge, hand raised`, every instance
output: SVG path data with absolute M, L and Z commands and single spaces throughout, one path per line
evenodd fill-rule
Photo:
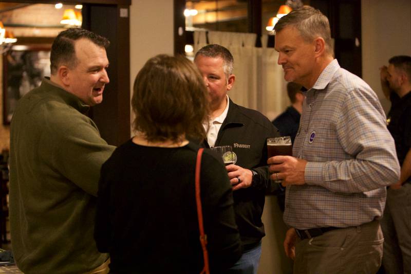
M 400 179 L 387 189 L 381 220 L 385 272 L 411 273 L 411 57 L 395 56 L 380 70 L 381 87 L 391 101 L 387 127 L 393 135 Z

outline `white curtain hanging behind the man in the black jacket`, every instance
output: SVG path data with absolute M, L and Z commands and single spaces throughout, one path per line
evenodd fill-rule
M 278 53 L 267 48 L 268 35 L 263 35 L 263 47 L 255 47 L 255 33 L 195 31 L 194 52 L 209 44 L 219 44 L 234 57 L 234 87 L 228 95 L 239 105 L 256 109 L 270 120 L 290 104 Z

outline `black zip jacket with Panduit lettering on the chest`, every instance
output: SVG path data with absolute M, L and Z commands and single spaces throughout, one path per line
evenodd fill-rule
M 215 146 L 231 145 L 236 155 L 235 165 L 253 169 L 258 184 L 233 192 L 235 218 L 243 250 L 256 246 L 265 236 L 261 215 L 265 191 L 270 186 L 267 166 L 267 138 L 278 137 L 275 126 L 263 114 L 234 104 L 230 99 L 227 117 L 218 132 Z M 207 141 L 204 142 L 208 147 Z

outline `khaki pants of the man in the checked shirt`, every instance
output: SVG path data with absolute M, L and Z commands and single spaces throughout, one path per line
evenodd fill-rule
M 383 242 L 379 221 L 297 239 L 294 274 L 374 274 L 381 265 Z

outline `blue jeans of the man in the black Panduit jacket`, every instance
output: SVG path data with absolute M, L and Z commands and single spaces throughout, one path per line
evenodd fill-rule
M 257 274 L 261 257 L 261 241 L 259 244 L 242 253 L 240 259 L 227 271 L 228 274 Z

